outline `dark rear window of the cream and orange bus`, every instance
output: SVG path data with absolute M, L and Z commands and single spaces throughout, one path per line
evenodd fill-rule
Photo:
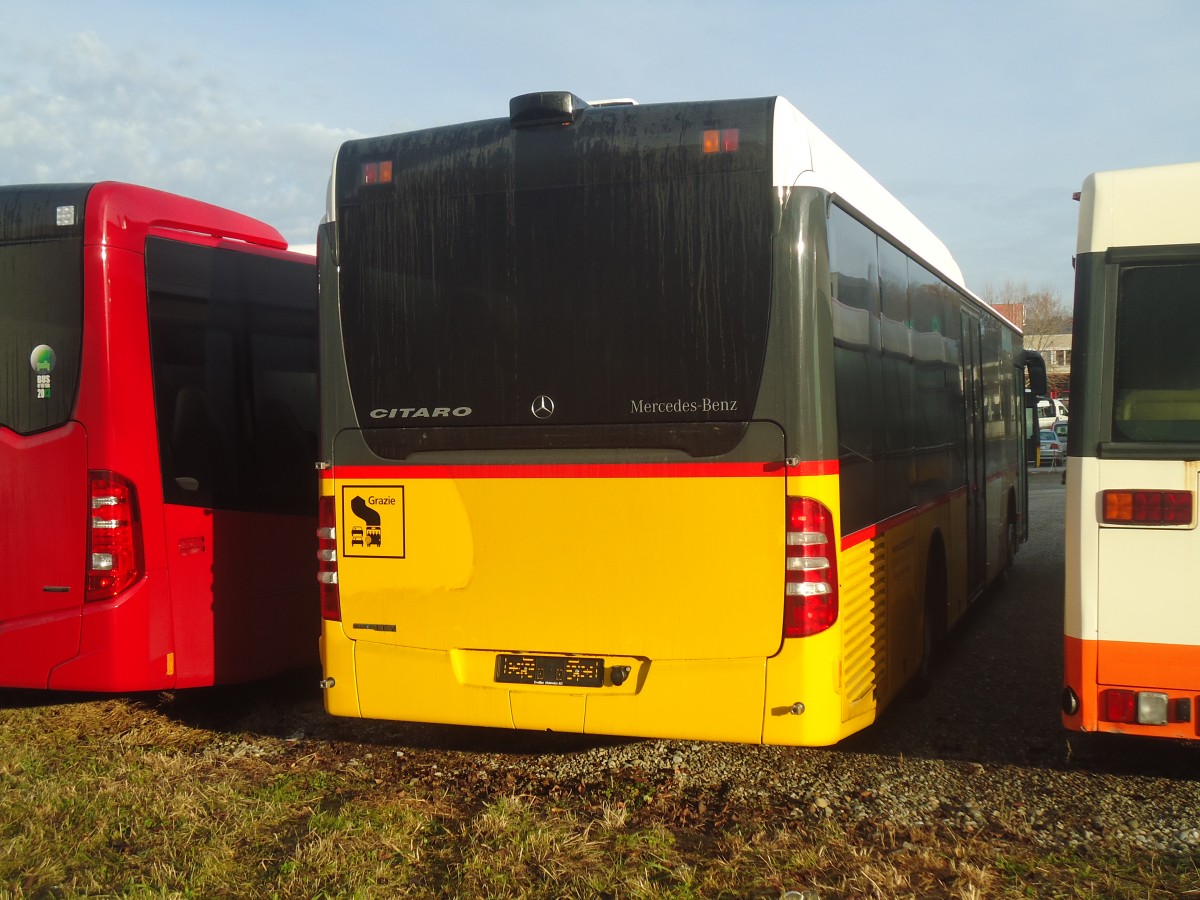
M 1112 439 L 1200 442 L 1200 263 L 1123 268 L 1116 335 Z

